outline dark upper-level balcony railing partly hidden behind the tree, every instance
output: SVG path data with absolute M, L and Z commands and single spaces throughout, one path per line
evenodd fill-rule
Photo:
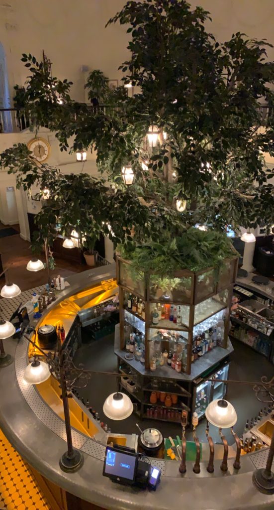
M 109 114 L 111 110 L 117 110 L 114 107 L 104 105 L 88 106 L 94 113 L 101 111 L 105 114 Z M 272 107 L 260 105 L 258 106 L 258 111 L 261 115 L 262 125 L 266 125 L 267 123 L 274 121 L 274 109 Z M 31 117 L 25 114 L 23 110 L 17 110 L 16 108 L 0 108 L 0 133 L 20 133 L 21 131 L 28 129 L 31 124 Z

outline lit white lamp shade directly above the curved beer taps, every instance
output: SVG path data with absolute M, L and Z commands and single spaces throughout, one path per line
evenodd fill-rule
M 218 428 L 230 428 L 237 421 L 233 405 L 227 400 L 212 400 L 206 408 L 206 419 Z

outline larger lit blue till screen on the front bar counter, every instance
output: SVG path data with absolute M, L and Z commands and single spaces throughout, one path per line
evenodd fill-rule
M 122 453 L 106 449 L 104 475 L 133 480 L 137 457 L 129 453 Z

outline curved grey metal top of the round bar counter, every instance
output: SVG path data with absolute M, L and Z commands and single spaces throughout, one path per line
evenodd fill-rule
M 49 305 L 37 326 L 64 299 L 96 282 L 115 278 L 115 274 L 113 264 L 68 278 L 70 286 Z M 9 311 L 18 306 L 21 297 L 27 300 L 30 296 L 30 292 L 22 294 L 16 298 L 17 301 L 9 300 L 8 304 L 8 300 L 3 300 L 6 319 L 9 319 Z M 99 508 L 117 510 L 274 508 L 274 495 L 261 494 L 252 483 L 253 471 L 265 466 L 268 449 L 241 456 L 238 472 L 233 468 L 234 458 L 228 460 L 226 473 L 220 469 L 221 461 L 215 461 L 211 474 L 206 470 L 207 462 L 201 462 L 199 474 L 193 472 L 192 462 L 186 462 L 184 475 L 179 473 L 179 463 L 153 459 L 153 463 L 161 468 L 162 475 L 156 492 L 150 492 L 120 486 L 103 477 L 105 445 L 73 429 L 73 444 L 83 452 L 84 466 L 76 473 L 64 473 L 59 467 L 60 457 L 66 450 L 64 421 L 43 400 L 36 387 L 26 385 L 22 377 L 28 364 L 28 341 L 24 338 L 18 341 L 8 339 L 4 344 L 6 352 L 14 356 L 15 363 L 0 371 L 0 428 L 30 466 L 68 493 Z

